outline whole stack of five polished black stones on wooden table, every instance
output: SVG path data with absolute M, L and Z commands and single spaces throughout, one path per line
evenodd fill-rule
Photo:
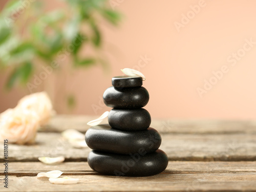
M 168 164 L 167 155 L 158 148 L 161 136 L 150 127 L 151 116 L 143 109 L 150 96 L 138 76 L 112 78 L 103 101 L 110 111 L 109 124 L 91 127 L 86 133 L 90 167 L 101 174 L 151 176 Z

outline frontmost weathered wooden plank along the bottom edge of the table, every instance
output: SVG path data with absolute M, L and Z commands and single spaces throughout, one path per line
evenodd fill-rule
M 11 176 L 0 191 L 256 191 L 255 174 L 159 174 L 151 178 L 79 175 L 80 183 L 54 185 L 48 178 Z

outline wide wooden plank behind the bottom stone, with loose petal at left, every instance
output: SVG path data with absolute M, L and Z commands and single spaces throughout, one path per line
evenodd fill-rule
M 3 149 L 3 143 L 0 148 Z M 163 134 L 160 149 L 169 160 L 256 160 L 255 134 Z M 91 149 L 75 149 L 60 133 L 38 133 L 35 145 L 9 144 L 10 161 L 38 161 L 41 156 L 65 156 L 66 161 L 86 161 Z M 3 160 L 3 153 L 0 158 Z

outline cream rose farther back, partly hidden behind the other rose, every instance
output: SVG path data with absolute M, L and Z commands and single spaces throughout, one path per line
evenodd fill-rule
M 19 100 L 16 108 L 37 113 L 40 125 L 45 125 L 55 113 L 51 100 L 45 91 L 26 95 Z

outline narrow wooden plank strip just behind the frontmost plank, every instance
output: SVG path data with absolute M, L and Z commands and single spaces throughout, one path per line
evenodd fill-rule
M 9 162 L 12 176 L 36 176 L 40 172 L 60 170 L 66 175 L 97 174 L 86 161 L 44 164 Z M 256 161 L 169 161 L 165 173 L 256 173 Z M 0 173 L 0 175 L 3 173 Z

